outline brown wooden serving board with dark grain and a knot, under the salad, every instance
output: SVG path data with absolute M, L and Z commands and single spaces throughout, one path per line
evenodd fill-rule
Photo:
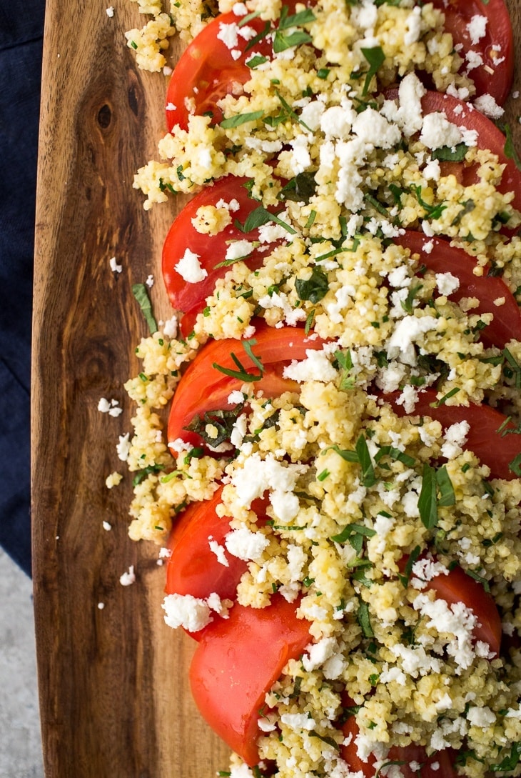
M 124 30 L 144 23 L 135 4 L 110 2 L 113 18 L 108 0 L 47 0 L 32 399 L 44 765 L 47 778 L 211 778 L 226 769 L 228 749 L 191 701 L 192 641 L 164 625 L 157 548 L 128 539 L 129 479 L 104 486 L 121 465 L 117 436 L 131 429 L 123 384 L 146 335 L 131 285 L 152 273 L 156 313 L 168 315 L 160 253 L 175 209 L 146 213 L 131 187 L 156 156 L 166 82 L 138 71 L 125 46 Z M 519 51 L 518 0 L 507 4 Z M 513 100 L 518 147 L 520 111 Z M 102 397 L 123 414 L 100 413 Z M 130 565 L 137 580 L 123 587 Z

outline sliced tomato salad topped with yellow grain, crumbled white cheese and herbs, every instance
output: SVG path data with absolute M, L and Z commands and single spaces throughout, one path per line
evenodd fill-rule
M 502 3 L 445 5 L 138 0 L 127 33 L 167 75 L 188 44 L 134 186 L 194 195 L 125 385 L 129 533 L 232 778 L 521 774 L 511 52 Z

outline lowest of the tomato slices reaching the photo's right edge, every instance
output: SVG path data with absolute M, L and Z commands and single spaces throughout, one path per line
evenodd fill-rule
M 433 389 L 421 391 L 414 413 L 407 414 L 403 405 L 397 405 L 399 397 L 399 392 L 383 394 L 383 398 L 399 416 L 430 416 L 439 421 L 444 429 L 457 422 L 467 421 L 470 429 L 464 447 L 474 451 L 477 458 L 490 468 L 492 478 L 511 480 L 517 477 L 509 464 L 521 454 L 521 435 L 510 433 L 503 436 L 498 432 L 500 428 L 503 432 L 515 429 L 507 416 L 488 405 L 436 405 L 436 392 Z

